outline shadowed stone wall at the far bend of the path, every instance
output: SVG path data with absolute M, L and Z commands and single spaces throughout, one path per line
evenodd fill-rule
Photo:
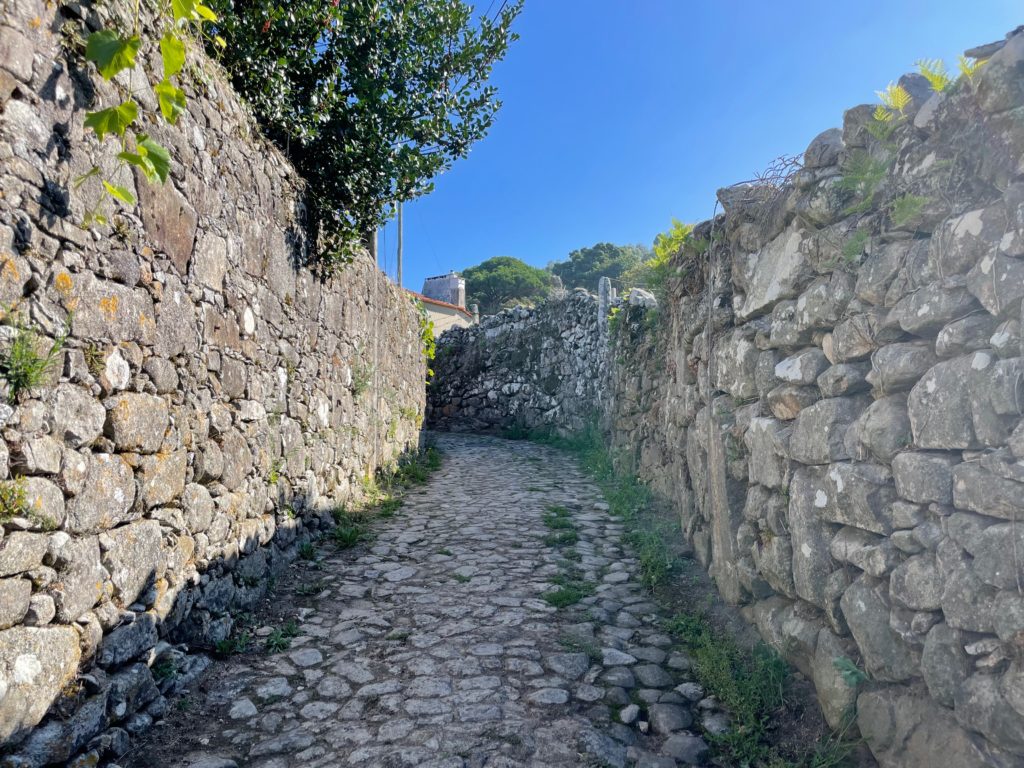
M 451 329 L 437 341 L 428 419 L 439 429 L 582 429 L 603 392 L 597 319 L 580 290 Z

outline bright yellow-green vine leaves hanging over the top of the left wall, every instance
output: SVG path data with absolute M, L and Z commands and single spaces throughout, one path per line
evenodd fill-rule
M 100 142 L 105 141 L 108 136 L 119 141 L 121 151 L 117 156 L 119 161 L 117 169 L 134 167 L 146 180 L 166 183 L 171 168 L 170 152 L 148 133 L 137 130 L 137 126 L 147 119 L 144 114 L 140 114 L 131 81 L 131 71 L 134 70 L 139 50 L 142 48 L 139 3 L 140 0 L 135 0 L 135 20 L 130 36 L 105 28 L 89 35 L 85 42 L 85 58 L 95 66 L 96 72 L 103 80 L 112 81 L 125 70 L 130 73 L 127 97 L 121 103 L 87 112 L 85 127 L 91 129 Z M 197 0 L 162 0 L 159 18 L 162 24 L 160 57 L 163 69 L 158 73 L 160 81 L 154 86 L 154 92 L 157 95 L 160 116 L 170 125 L 176 125 L 187 105 L 185 92 L 181 89 L 179 80 L 187 55 L 189 32 L 195 31 L 202 36 L 203 24 L 216 22 L 217 15 Z M 219 37 L 214 37 L 213 43 L 218 46 L 224 45 L 224 41 Z M 156 121 L 156 116 L 153 116 L 152 122 Z M 104 178 L 99 166 L 93 166 L 76 178 L 74 186 L 78 188 L 90 178 L 98 178 L 106 195 L 86 212 L 83 226 L 109 223 L 102 212 L 108 197 L 128 207 L 135 205 L 136 200 L 132 191 L 116 183 L 113 175 Z

